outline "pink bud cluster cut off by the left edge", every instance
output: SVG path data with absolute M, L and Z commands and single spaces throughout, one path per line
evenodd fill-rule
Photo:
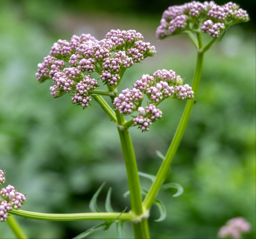
M 4 172 L 0 170 L 0 186 L 5 183 Z M 19 193 L 12 185 L 0 188 L 0 221 L 6 221 L 12 209 L 19 209 L 26 201 L 24 194 Z

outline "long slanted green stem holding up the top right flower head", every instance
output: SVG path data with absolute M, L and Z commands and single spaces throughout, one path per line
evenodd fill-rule
M 163 181 L 165 180 L 165 176 L 169 170 L 172 159 L 173 159 L 173 157 L 177 151 L 177 148 L 179 147 L 181 139 L 183 137 L 186 125 L 188 123 L 189 116 L 191 114 L 193 105 L 195 103 L 195 98 L 196 98 L 196 94 L 198 91 L 199 82 L 201 79 L 202 65 L 203 65 L 203 53 L 199 50 L 198 54 L 197 54 L 197 63 L 196 63 L 195 75 L 194 75 L 194 80 L 193 80 L 193 85 L 192 85 L 192 89 L 195 92 L 195 97 L 191 100 L 188 100 L 186 103 L 186 107 L 184 109 L 181 121 L 180 121 L 178 128 L 175 132 L 175 135 L 171 141 L 171 145 L 170 145 L 170 148 L 168 149 L 165 160 L 163 161 L 160 169 L 158 170 L 156 180 L 155 180 L 155 182 L 153 182 L 153 184 L 152 184 L 151 188 L 149 189 L 149 192 L 147 193 L 146 198 L 143 202 L 143 206 L 146 209 L 149 209 L 150 206 L 153 204 L 155 197 L 157 196 L 158 190 L 159 190 L 161 184 L 163 183 Z

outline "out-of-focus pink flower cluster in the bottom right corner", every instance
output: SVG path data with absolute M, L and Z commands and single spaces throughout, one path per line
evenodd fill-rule
M 251 224 L 244 217 L 235 217 L 227 221 L 226 225 L 219 229 L 220 238 L 241 238 L 242 233 L 247 233 Z

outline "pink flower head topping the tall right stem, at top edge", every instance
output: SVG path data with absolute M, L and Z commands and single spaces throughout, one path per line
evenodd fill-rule
M 236 3 L 228 2 L 219 6 L 214 1 L 192 1 L 165 10 L 156 36 L 161 39 L 185 30 L 201 29 L 202 33 L 218 37 L 229 25 L 247 21 L 247 11 Z

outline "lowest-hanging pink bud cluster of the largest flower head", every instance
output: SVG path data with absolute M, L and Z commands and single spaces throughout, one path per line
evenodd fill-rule
M 76 93 L 72 98 L 73 103 L 81 105 L 84 109 L 90 105 L 91 96 L 90 91 L 96 89 L 98 81 L 91 78 L 90 75 L 85 76 L 84 80 L 81 80 L 76 85 Z

